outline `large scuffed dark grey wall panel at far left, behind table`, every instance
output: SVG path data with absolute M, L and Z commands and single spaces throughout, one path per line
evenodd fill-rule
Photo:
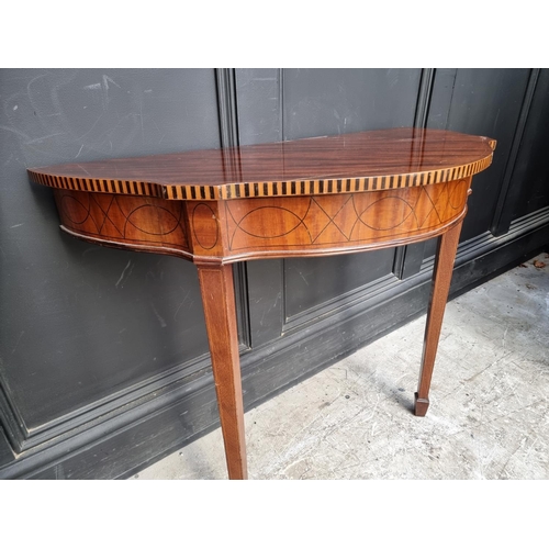
M 212 69 L 3 69 L 0 86 L 0 406 L 21 450 L 208 352 L 193 266 L 61 234 L 25 168 L 220 141 Z

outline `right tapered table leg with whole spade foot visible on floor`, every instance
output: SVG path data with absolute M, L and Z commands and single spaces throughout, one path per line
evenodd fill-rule
M 450 290 L 461 225 L 462 222 L 444 233 L 438 242 L 433 273 L 433 289 L 425 327 L 422 371 L 419 373 L 417 393 L 415 393 L 415 415 L 417 416 L 424 416 L 429 407 L 430 379 L 433 377 L 438 339 L 440 337 L 440 328 L 442 327 L 442 317 Z

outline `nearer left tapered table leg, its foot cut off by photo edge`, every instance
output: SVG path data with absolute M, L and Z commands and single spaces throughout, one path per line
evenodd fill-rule
M 233 267 L 198 265 L 229 479 L 246 479 L 246 440 Z

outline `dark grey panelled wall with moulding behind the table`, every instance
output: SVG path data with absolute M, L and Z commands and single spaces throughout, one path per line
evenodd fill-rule
M 548 94 L 546 69 L 0 70 L 0 478 L 126 477 L 217 422 L 194 267 L 61 234 L 25 168 L 410 125 L 488 135 L 457 293 L 549 242 Z M 246 406 L 422 314 L 435 244 L 236 267 Z

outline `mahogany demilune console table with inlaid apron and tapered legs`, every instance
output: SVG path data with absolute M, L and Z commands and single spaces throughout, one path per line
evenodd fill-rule
M 198 267 L 228 475 L 246 445 L 232 265 L 347 254 L 441 236 L 415 414 L 424 416 L 472 176 L 495 141 L 395 128 L 30 169 L 54 188 L 61 228 Z

